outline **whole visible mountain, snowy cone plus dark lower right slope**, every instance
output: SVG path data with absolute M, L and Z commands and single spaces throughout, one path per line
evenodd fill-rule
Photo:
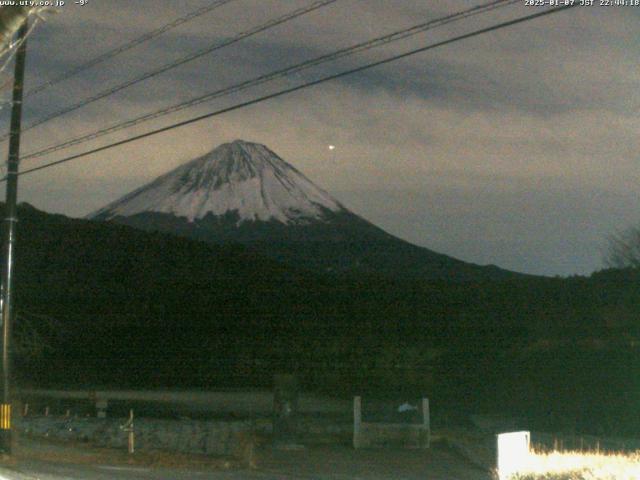
M 314 270 L 440 280 L 507 279 L 410 244 L 349 211 L 266 146 L 236 140 L 88 216 L 212 243 L 242 243 Z

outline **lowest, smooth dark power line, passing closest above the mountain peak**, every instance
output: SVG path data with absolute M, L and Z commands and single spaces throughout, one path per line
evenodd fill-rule
M 342 78 L 342 77 L 345 77 L 347 75 L 352 75 L 354 73 L 359 73 L 359 72 L 362 72 L 362 71 L 365 71 L 365 70 L 369 70 L 371 68 L 374 68 L 374 67 L 377 67 L 377 66 L 380 66 L 380 65 L 385 65 L 387 63 L 391 63 L 391 62 L 394 62 L 396 60 L 400 60 L 402 58 L 406 58 L 406 57 L 409 57 L 409 56 L 412 56 L 412 55 L 416 55 L 418 53 L 426 52 L 426 51 L 432 50 L 434 48 L 438 48 L 438 47 L 442 47 L 442 46 L 445 46 L 445 45 L 449 45 L 449 44 L 452 44 L 452 43 L 455 43 L 455 42 L 459 42 L 461 40 L 466 40 L 468 38 L 476 37 L 478 35 L 482 35 L 484 33 L 489 33 L 489 32 L 495 31 L 495 30 L 499 30 L 501 28 L 510 27 L 512 25 L 516 25 L 516 24 L 519 24 L 519 23 L 524 23 L 524 22 L 527 22 L 527 21 L 530 21 L 530 20 L 534 20 L 536 18 L 540 18 L 540 17 L 546 16 L 546 15 L 551 15 L 551 14 L 554 14 L 554 13 L 558 13 L 558 12 L 567 10 L 569 8 L 573 8 L 573 7 L 577 6 L 577 5 L 578 4 L 576 3 L 576 4 L 564 5 L 564 6 L 561 6 L 561 7 L 555 7 L 555 8 L 552 8 L 550 10 L 544 10 L 542 12 L 534 13 L 534 14 L 531 14 L 531 15 L 526 15 L 524 17 L 519 17 L 519 18 L 516 18 L 516 19 L 513 19 L 513 20 L 508 20 L 508 21 L 505 21 L 505 22 L 502 22 L 502 23 L 499 23 L 499 24 L 496 24 L 496 25 L 493 25 L 493 26 L 490 26 L 490 27 L 474 30 L 473 32 L 465 33 L 463 35 L 458 35 L 456 37 L 453 37 L 453 38 L 450 38 L 450 39 L 447 39 L 447 40 L 443 40 L 443 41 L 440 41 L 440 42 L 432 43 L 430 45 L 427 45 L 427 46 L 424 46 L 424 47 L 420 47 L 420 48 L 416 48 L 414 50 L 410 50 L 410 51 L 405 52 L 405 53 L 401 53 L 401 54 L 398 54 L 398 55 L 393 55 L 391 57 L 387 57 L 387 58 L 385 58 L 383 60 L 379 60 L 377 62 L 369 63 L 369 64 L 362 65 L 362 66 L 357 67 L 357 68 L 353 68 L 353 69 L 346 70 L 346 71 L 343 71 L 343 72 L 340 72 L 340 73 L 329 75 L 329 76 L 320 78 L 318 80 L 314 80 L 314 81 L 311 81 L 311 82 L 304 83 L 302 85 L 298 85 L 298 86 L 295 86 L 295 87 L 291 87 L 291 88 L 287 88 L 287 89 L 284 89 L 284 90 L 280 90 L 278 92 L 271 93 L 271 94 L 268 94 L 268 95 L 264 95 L 262 97 L 255 98 L 253 100 L 249 100 L 249 101 L 246 101 L 246 102 L 243 102 L 243 103 L 238 103 L 236 105 L 233 105 L 233 106 L 230 106 L 230 107 L 227 107 L 227 108 L 223 108 L 223 109 L 220 109 L 220 110 L 216 110 L 214 112 L 210 112 L 210 113 L 207 113 L 207 114 L 204 114 L 204 115 L 199 115 L 197 117 L 193 117 L 193 118 L 191 118 L 189 120 L 184 120 L 182 122 L 178 122 L 178 123 L 175 123 L 175 124 L 172 124 L 172 125 L 168 125 L 166 127 L 162 127 L 162 128 L 157 129 L 157 130 L 152 130 L 152 131 L 140 134 L 140 135 L 136 135 L 134 137 L 127 138 L 125 140 L 120 140 L 118 142 L 114 142 L 114 143 L 111 143 L 111 144 L 108 144 L 108 145 L 104 145 L 102 147 L 94 148 L 94 149 L 91 149 L 91 150 L 88 150 L 88 151 L 85 151 L 85 152 L 82 152 L 82 153 L 78 153 L 76 155 L 71 155 L 71 156 L 62 158 L 60 160 L 49 162 L 49 163 L 40 165 L 38 167 L 30 168 L 28 170 L 25 170 L 24 172 L 21 172 L 19 175 L 26 175 L 26 174 L 29 174 L 29 173 L 37 172 L 39 170 L 44 170 L 46 168 L 50 168 L 50 167 L 53 167 L 53 166 L 56 166 L 56 165 L 60 165 L 62 163 L 66 163 L 66 162 L 70 162 L 72 160 L 76 160 L 78 158 L 82 158 L 82 157 L 86 157 L 86 156 L 92 155 L 94 153 L 103 152 L 105 150 L 109 150 L 111 148 L 119 147 L 119 146 L 125 145 L 127 143 L 135 142 L 135 141 L 141 140 L 143 138 L 151 137 L 153 135 L 158 135 L 160 133 L 168 132 L 170 130 L 173 130 L 173 129 L 176 129 L 176 128 L 179 128 L 179 127 L 190 125 L 192 123 L 196 123 L 196 122 L 199 122 L 201 120 L 205 120 L 205 119 L 212 118 L 212 117 L 215 117 L 215 116 L 218 116 L 218 115 L 222 115 L 224 113 L 228 113 L 228 112 L 231 112 L 231 111 L 234 111 L 234 110 L 239 110 L 239 109 L 244 108 L 244 107 L 255 105 L 257 103 L 261 103 L 261 102 L 264 102 L 266 100 L 271 100 L 273 98 L 281 97 L 281 96 L 287 95 L 289 93 L 297 92 L 299 90 L 303 90 L 305 88 L 313 87 L 313 86 L 316 86 L 316 85 L 319 85 L 319 84 L 322 84 L 322 83 L 325 83 L 325 82 L 328 82 L 328 81 L 331 81 L 331 80 L 336 80 L 338 78 Z M 6 181 L 6 177 L 0 179 L 0 182 L 4 182 L 4 181 Z

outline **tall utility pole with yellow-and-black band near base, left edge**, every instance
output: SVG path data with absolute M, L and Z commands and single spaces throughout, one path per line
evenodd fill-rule
M 27 56 L 26 19 L 18 30 L 20 47 L 16 54 L 13 78 L 13 106 L 9 132 L 9 159 L 7 162 L 6 214 L 4 225 L 4 265 L 2 271 L 2 403 L 0 404 L 0 452 L 11 453 L 11 323 L 14 317 L 14 256 L 16 223 L 18 222 L 18 167 L 20 164 L 20 125 L 22 121 L 22 92 L 24 67 Z

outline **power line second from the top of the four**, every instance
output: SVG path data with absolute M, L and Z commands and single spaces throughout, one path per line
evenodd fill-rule
M 227 0 L 228 1 L 228 0 Z M 297 17 L 300 17 L 302 15 L 305 15 L 307 13 L 313 12 L 314 10 L 318 10 L 319 8 L 325 7 L 327 5 L 330 5 L 332 3 L 337 2 L 338 0 L 317 0 L 316 2 L 306 6 L 306 7 L 302 7 L 302 8 L 298 8 L 296 10 L 293 10 L 281 17 L 275 18 L 273 20 L 270 20 L 266 23 L 263 23 L 262 25 L 259 25 L 257 27 L 254 27 L 250 30 L 241 32 L 239 34 L 237 34 L 236 36 L 222 41 L 220 43 L 214 43 L 213 45 L 210 45 L 209 47 L 206 47 L 204 49 L 198 50 L 195 53 L 192 53 L 190 55 L 187 55 L 186 57 L 182 57 L 174 62 L 171 63 L 167 63 L 165 65 L 163 65 L 162 67 L 147 72 L 139 77 L 136 77 L 132 80 L 126 81 L 124 83 L 121 83 L 119 85 L 116 85 L 115 87 L 112 88 L 108 88 L 107 90 L 103 90 L 102 92 L 93 95 L 92 97 L 86 98 L 74 105 L 71 105 L 70 107 L 66 107 L 63 108 L 61 110 L 58 110 L 57 112 L 54 112 L 44 118 L 41 118 L 40 120 L 37 120 L 33 123 L 31 123 L 30 125 L 24 127 L 22 129 L 22 131 L 27 131 L 27 130 L 31 130 L 34 127 L 37 127 L 39 125 L 42 125 L 43 123 L 49 122 L 55 118 L 61 117 L 62 115 L 65 115 L 67 113 L 73 112 L 75 110 L 78 110 L 82 107 L 85 107 L 86 105 L 89 105 L 90 103 L 93 103 L 95 101 L 101 100 L 103 98 L 109 97 L 115 93 L 118 93 L 126 88 L 132 87 L 133 85 L 136 85 L 140 82 L 143 82 L 145 80 L 149 80 L 150 78 L 156 77 L 162 73 L 165 73 L 169 70 L 172 70 L 176 67 L 179 67 L 181 65 L 184 65 L 185 63 L 191 62 L 193 60 L 196 60 L 200 57 L 203 57 L 204 55 L 208 55 L 209 53 L 212 53 L 216 50 L 220 50 L 222 48 L 228 47 L 229 45 L 233 45 L 234 43 L 239 42 L 240 40 L 243 40 L 245 38 L 251 37 L 253 35 L 256 35 L 260 32 L 263 32 L 265 30 L 269 30 L 273 27 L 276 27 L 278 25 L 281 25 L 285 22 L 288 22 L 290 20 L 293 20 Z M 0 141 L 4 141 L 6 138 L 8 138 L 8 135 L 2 135 L 0 136 Z

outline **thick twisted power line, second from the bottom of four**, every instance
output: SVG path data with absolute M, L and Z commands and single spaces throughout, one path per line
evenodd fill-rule
M 411 37 L 413 35 L 417 35 L 419 33 L 423 33 L 427 30 L 430 30 L 432 28 L 436 28 L 436 27 L 440 27 L 442 25 L 446 25 L 448 23 L 452 23 L 452 22 L 456 22 L 474 15 L 478 15 L 478 14 L 483 14 L 483 13 L 487 13 L 491 10 L 497 9 L 497 8 L 501 8 L 501 7 L 505 7 L 514 3 L 520 3 L 520 0 L 495 0 L 492 2 L 489 2 L 487 4 L 482 4 L 467 10 L 463 10 L 463 11 L 459 11 L 456 13 L 452 13 L 450 15 L 447 15 L 445 17 L 440 17 L 434 20 L 430 20 L 428 22 L 423 22 L 423 23 L 419 23 L 417 25 L 414 25 L 412 27 L 409 28 L 405 28 L 402 30 L 398 30 L 396 32 L 381 36 L 381 37 L 377 37 L 377 38 L 373 38 L 371 40 L 367 40 L 365 42 L 361 42 L 355 45 L 352 45 L 350 47 L 347 48 L 343 48 L 341 50 L 338 50 L 336 52 L 332 52 L 326 55 L 321 55 L 319 57 L 315 57 L 313 59 L 310 60 L 306 60 L 302 63 L 298 63 L 296 65 L 293 66 L 289 66 L 286 67 L 284 69 L 281 70 L 277 70 L 275 72 L 271 72 L 265 75 L 261 75 L 259 77 L 253 78 L 251 80 L 247 80 L 244 82 L 241 82 L 239 84 L 236 85 L 232 85 L 230 87 L 226 87 L 220 90 L 216 90 L 214 92 L 210 92 L 207 93 L 205 95 L 193 98 L 191 100 L 188 100 L 186 102 L 181 102 L 178 103 L 176 105 L 172 105 L 169 107 L 164 107 L 161 108 L 159 110 L 156 110 L 154 112 L 151 113 L 147 113 L 144 114 L 142 116 L 127 120 L 125 122 L 121 122 L 121 123 L 117 123 L 115 125 L 111 125 L 109 127 L 106 128 L 102 128 L 99 129 L 97 131 L 88 133 L 88 134 L 84 134 L 81 135 L 79 137 L 67 140 L 63 143 L 60 144 L 55 144 L 55 145 L 49 145 L 41 150 L 35 151 L 35 152 L 30 152 L 27 155 L 22 157 L 22 160 L 27 160 L 27 159 L 31 159 L 31 158 L 36 158 L 36 157 L 42 157 L 46 154 L 49 153 L 53 153 L 56 152 L 58 150 L 62 150 L 74 145 L 78 145 L 80 143 L 84 143 L 87 142 L 89 140 L 95 140 L 96 138 L 100 138 L 104 135 L 110 134 L 110 133 L 114 133 L 117 132 L 119 130 L 123 130 L 125 128 L 129 128 L 129 127 L 133 127 L 136 125 L 139 125 L 141 123 L 150 121 L 150 120 L 154 120 L 156 118 L 160 118 L 163 117 L 165 115 L 169 115 L 171 113 L 175 113 L 178 112 L 180 110 L 184 110 L 186 108 L 189 107 L 193 107 L 196 105 L 199 105 L 201 103 L 204 102 L 208 102 L 210 100 L 216 99 L 216 98 L 220 98 L 223 96 L 227 96 L 233 93 L 237 93 L 243 90 L 246 90 L 248 88 L 251 87 L 255 87 L 257 85 L 261 85 L 263 83 L 269 82 L 271 80 L 280 78 L 280 77 L 285 77 L 294 73 L 299 73 L 303 70 L 309 69 L 311 67 L 315 67 L 318 65 L 321 65 L 323 63 L 329 62 L 329 61 L 334 61 L 334 60 L 338 60 L 340 58 L 349 56 L 349 55 L 353 55 L 356 53 L 360 53 L 372 48 L 376 48 L 382 45 L 386 45 L 392 42 L 396 42 L 399 40 L 403 40 L 406 39 L 408 37 Z

